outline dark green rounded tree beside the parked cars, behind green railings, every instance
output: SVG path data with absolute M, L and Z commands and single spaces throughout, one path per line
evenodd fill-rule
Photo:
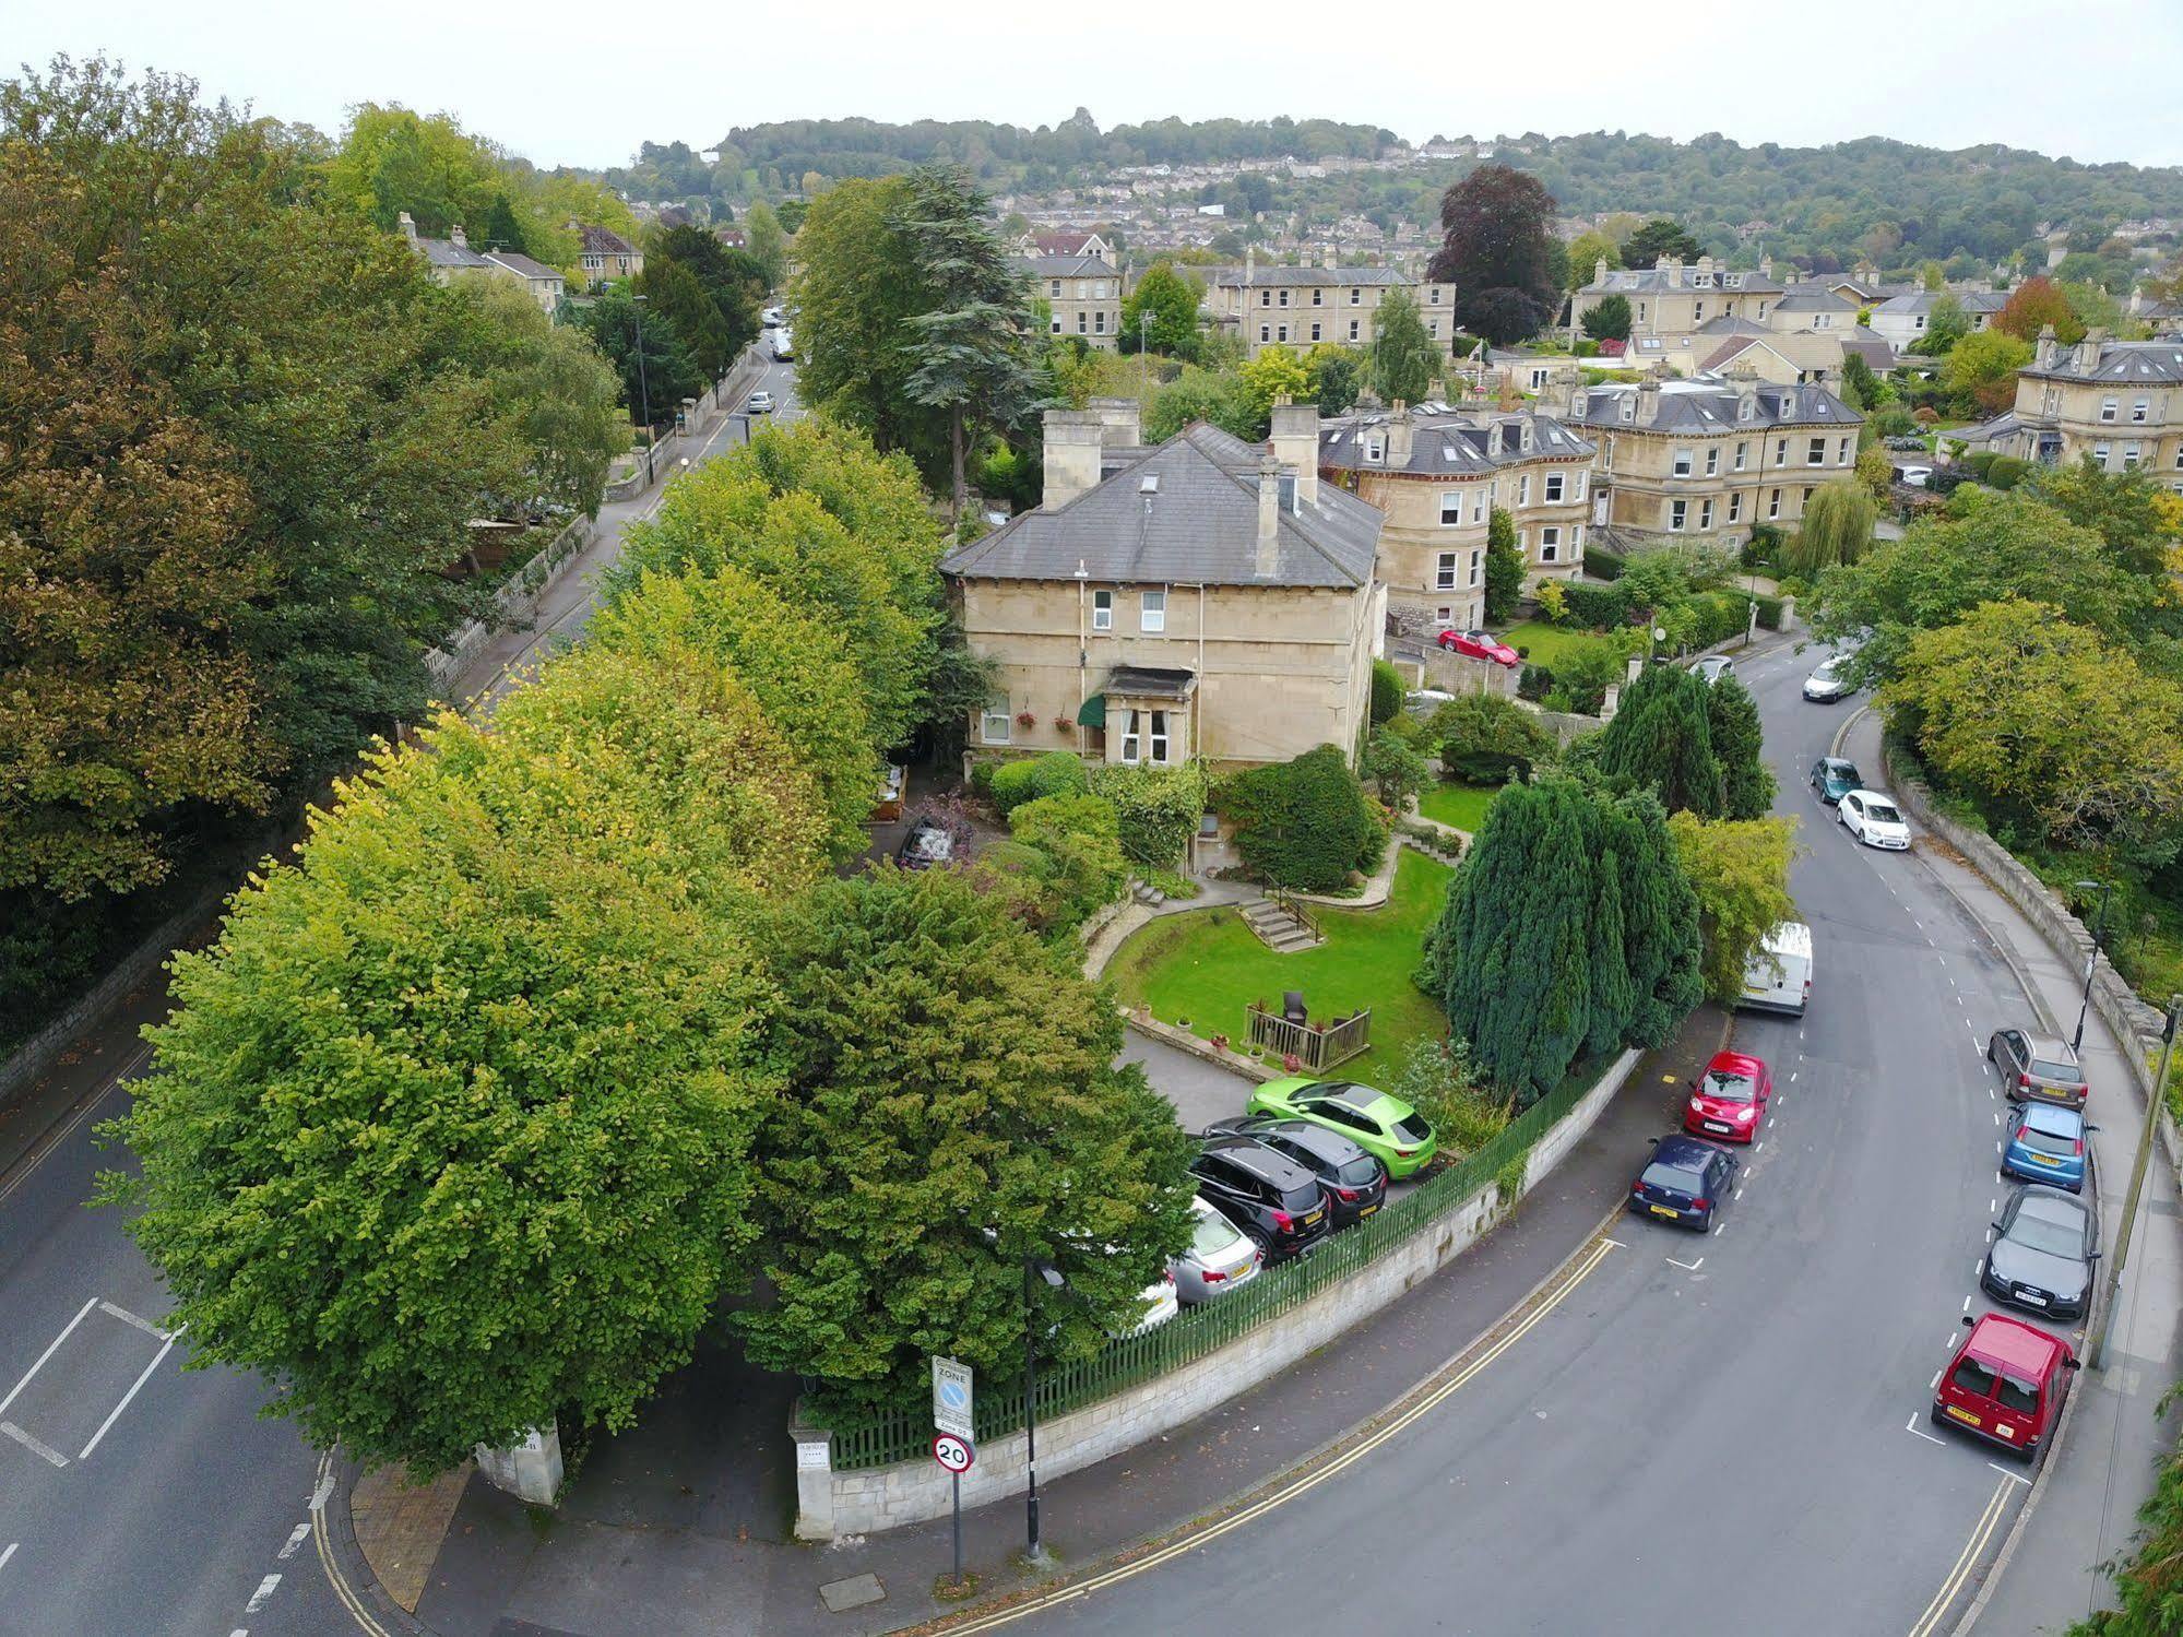
M 1116 1065 L 1120 1017 L 1072 952 L 961 873 L 895 869 L 786 906 L 768 947 L 788 1085 L 758 1196 L 775 1299 L 733 1318 L 751 1358 L 847 1406 L 912 1403 L 937 1353 L 1006 1384 L 1024 1257 L 1067 1281 L 1037 1286 L 1048 1355 L 1135 1325 L 1190 1240 L 1192 1144 Z

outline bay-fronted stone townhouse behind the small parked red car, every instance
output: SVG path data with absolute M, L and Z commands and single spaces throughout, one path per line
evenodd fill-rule
M 1386 517 L 1377 572 L 1397 626 L 1484 624 L 1495 506 L 1515 524 L 1526 589 L 1583 572 L 1594 450 L 1552 415 L 1395 404 L 1321 426 L 1314 404 L 1275 404 L 1275 458 L 1295 463 L 1314 443 L 1321 480 Z

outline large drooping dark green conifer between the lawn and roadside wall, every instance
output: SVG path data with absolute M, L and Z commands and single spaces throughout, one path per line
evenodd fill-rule
M 1508 786 L 1425 934 L 1419 982 L 1498 1087 L 1666 1041 L 1703 993 L 1698 904 L 1650 794 Z

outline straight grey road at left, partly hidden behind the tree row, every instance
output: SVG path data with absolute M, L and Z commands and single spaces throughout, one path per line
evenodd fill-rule
M 799 413 L 792 367 L 768 360 L 755 386 L 777 419 Z M 699 458 L 740 441 L 725 417 Z M 533 631 L 480 655 L 461 694 L 498 692 L 581 633 L 622 526 L 655 506 L 607 506 L 592 561 Z M 255 1375 L 183 1369 L 190 1342 L 164 1334 L 157 1275 L 114 1211 L 85 1209 L 96 1174 L 127 1163 L 94 1128 L 127 1109 L 135 1028 L 159 1011 L 157 993 L 118 1008 L 0 1126 L 0 1637 L 354 1633 L 310 1541 L 317 1451 L 260 1417 Z

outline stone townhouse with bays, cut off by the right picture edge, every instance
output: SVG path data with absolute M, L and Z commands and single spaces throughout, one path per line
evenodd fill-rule
M 2089 454 L 2102 471 L 2144 467 L 2183 489 L 2183 340 L 2091 330 L 2065 347 L 2048 325 L 2017 371 L 2017 406 L 1963 437 L 2043 465 Z

